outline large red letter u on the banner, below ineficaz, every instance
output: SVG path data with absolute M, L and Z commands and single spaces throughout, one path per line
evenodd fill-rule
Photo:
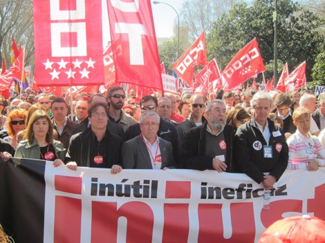
M 230 204 L 232 235 L 223 237 L 223 204 L 198 205 L 198 242 L 254 242 L 255 222 L 252 203 Z

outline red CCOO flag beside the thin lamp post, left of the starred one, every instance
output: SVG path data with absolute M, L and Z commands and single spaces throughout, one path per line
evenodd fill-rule
M 194 67 L 207 65 L 207 50 L 205 48 L 204 32 L 194 41 L 184 54 L 173 64 L 177 75 L 190 87 L 193 85 Z

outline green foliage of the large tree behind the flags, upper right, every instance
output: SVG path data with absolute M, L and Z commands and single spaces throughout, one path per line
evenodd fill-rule
M 257 37 L 264 64 L 268 67 L 266 79 L 273 72 L 270 64 L 274 59 L 274 0 L 255 0 L 251 6 L 236 4 L 228 14 L 214 23 L 214 29 L 207 35 L 208 59 L 216 58 L 221 69 L 229 63 L 246 43 Z M 324 43 L 324 34 L 319 32 L 322 20 L 316 14 L 304 10 L 291 0 L 278 0 L 278 71 L 288 62 L 293 71 L 306 60 L 307 80 L 319 47 Z

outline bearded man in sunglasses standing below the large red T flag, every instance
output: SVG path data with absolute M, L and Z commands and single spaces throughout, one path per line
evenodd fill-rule
M 113 86 L 107 90 L 107 101 L 109 101 L 109 120 L 115 124 L 122 126 L 124 132 L 133 124 L 136 124 L 136 119 L 131 117 L 122 110 L 124 106 L 125 93 L 121 86 Z

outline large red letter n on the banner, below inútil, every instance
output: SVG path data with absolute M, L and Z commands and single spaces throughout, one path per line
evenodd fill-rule
M 127 202 L 117 209 L 116 202 L 93 202 L 91 242 L 117 242 L 118 219 L 127 218 L 126 242 L 152 242 L 154 212 L 144 202 Z

